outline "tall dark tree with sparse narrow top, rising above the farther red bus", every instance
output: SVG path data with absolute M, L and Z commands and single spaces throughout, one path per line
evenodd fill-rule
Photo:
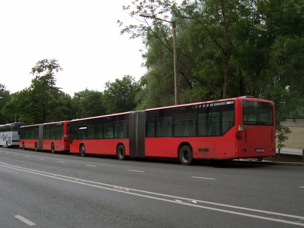
M 56 87 L 55 72 L 63 70 L 57 60 L 41 60 L 32 68 L 32 84 L 16 93 L 5 108 L 20 122 L 48 123 L 71 119 L 71 97 Z

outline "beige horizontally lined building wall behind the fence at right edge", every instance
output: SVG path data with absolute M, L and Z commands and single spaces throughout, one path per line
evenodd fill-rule
M 288 127 L 292 132 L 288 134 L 289 139 L 283 144 L 288 149 L 303 150 L 304 149 L 304 119 L 286 119 L 282 123 L 283 126 Z M 278 142 L 276 141 L 276 145 Z

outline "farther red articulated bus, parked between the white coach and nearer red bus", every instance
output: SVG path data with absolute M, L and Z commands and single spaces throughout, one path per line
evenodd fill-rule
M 71 121 L 43 123 L 20 127 L 19 147 L 50 150 L 53 154 L 70 150 L 70 135 L 67 133 Z

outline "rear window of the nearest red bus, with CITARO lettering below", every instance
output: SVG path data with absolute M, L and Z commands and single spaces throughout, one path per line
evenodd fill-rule
M 273 105 L 270 102 L 243 100 L 243 124 L 273 126 Z

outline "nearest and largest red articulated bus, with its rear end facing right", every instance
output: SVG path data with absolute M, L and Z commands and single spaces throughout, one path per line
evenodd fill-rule
M 231 160 L 275 156 L 274 103 L 239 97 L 71 121 L 70 152 Z

